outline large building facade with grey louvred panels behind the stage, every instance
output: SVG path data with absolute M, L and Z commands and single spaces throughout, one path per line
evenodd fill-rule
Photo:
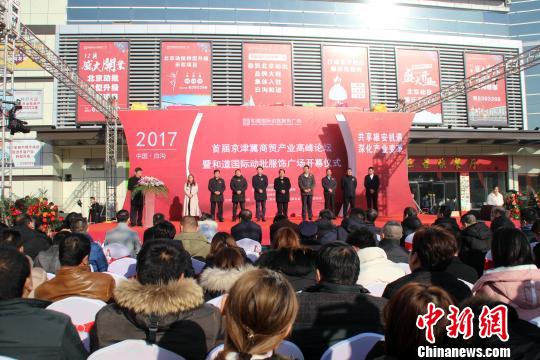
M 324 46 L 367 47 L 370 105 L 383 103 L 392 110 L 399 92 L 398 49 L 436 51 L 444 88 L 465 77 L 468 53 L 510 58 L 534 46 L 536 38 L 527 35 L 532 30 L 523 23 L 540 21 L 540 12 L 531 8 L 531 1 L 508 5 L 488 0 L 158 0 L 151 4 L 69 0 L 49 2 L 54 3 L 51 8 L 34 3 L 23 2 L 23 23 L 49 39 L 50 46 L 75 68 L 81 41 L 129 42 L 129 103 L 145 103 L 149 108 L 161 105 L 163 41 L 211 43 L 212 102 L 217 105 L 242 105 L 245 42 L 292 45 L 295 106 L 323 105 Z M 24 13 L 25 8 L 31 11 Z M 413 126 L 409 181 L 422 208 L 435 211 L 442 204 L 456 210 L 479 208 L 493 185 L 539 190 L 540 133 L 534 130 L 540 126 L 535 95 L 538 71 L 533 68 L 506 78 L 507 121 L 503 127 L 472 126 L 465 95 L 443 104 L 442 124 Z M 16 75 L 21 88 L 44 89 L 44 111 L 42 119 L 30 123 L 37 131 L 27 136 L 27 141 L 43 144 L 41 163 L 14 169 L 15 195 L 43 188 L 66 211 L 80 210 L 79 199 L 85 208 L 89 196 L 104 200 L 100 127 L 78 125 L 76 96 L 46 73 L 29 70 Z M 50 107 L 47 99 L 51 99 Z M 128 168 L 126 148 L 120 146 L 120 201 Z

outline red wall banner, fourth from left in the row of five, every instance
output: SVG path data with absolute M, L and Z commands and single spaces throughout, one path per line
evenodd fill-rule
M 369 111 L 368 52 L 365 47 L 323 46 L 325 106 L 356 106 Z

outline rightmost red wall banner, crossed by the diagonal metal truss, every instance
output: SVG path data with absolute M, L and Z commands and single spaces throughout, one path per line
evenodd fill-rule
M 396 49 L 398 97 L 406 104 L 440 91 L 439 53 L 436 50 Z M 442 105 L 421 111 L 413 124 L 442 124 Z

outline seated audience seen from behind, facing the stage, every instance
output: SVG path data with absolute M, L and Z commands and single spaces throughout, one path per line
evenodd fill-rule
M 276 216 L 269 247 L 247 209 L 233 234 L 190 216 L 177 230 L 156 214 L 142 241 L 126 210 L 103 239 L 92 238 L 81 214 L 69 214 L 52 238 L 21 215 L 0 229 L 0 356 L 84 359 L 142 340 L 185 359 L 216 348 L 217 359 L 283 359 L 287 340 L 305 359 L 320 359 L 340 341 L 376 333 L 384 339 L 367 359 L 414 359 L 424 345 L 510 348 L 513 359 L 533 359 L 540 354 L 540 220 L 535 209 L 523 213 L 516 226 L 496 207 L 487 226 L 473 212 L 456 221 L 442 208 L 434 224 L 423 224 L 407 208 L 401 223 L 380 228 L 375 210 L 359 208 L 340 224 L 328 210 L 300 224 Z M 119 261 L 110 246 L 127 249 L 133 276 L 107 273 Z M 104 302 L 86 329 L 86 348 L 78 324 L 47 309 L 73 297 Z M 502 305 L 510 340 L 478 329 L 451 337 L 442 317 L 428 344 L 417 320 L 430 303 L 476 318 Z

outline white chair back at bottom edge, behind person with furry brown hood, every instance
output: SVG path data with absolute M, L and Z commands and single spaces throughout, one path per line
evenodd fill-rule
M 88 360 L 185 360 L 182 356 L 157 345 L 147 344 L 144 340 L 124 340 L 114 345 L 99 349 L 88 357 Z

